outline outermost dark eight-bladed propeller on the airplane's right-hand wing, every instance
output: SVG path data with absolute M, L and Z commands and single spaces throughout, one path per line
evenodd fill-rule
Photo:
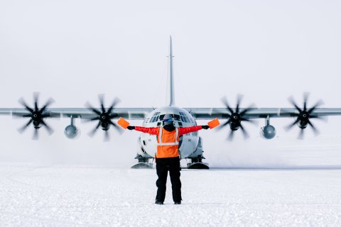
M 298 107 L 296 101 L 293 99 L 293 96 L 288 97 L 288 101 L 296 108 L 298 113 L 292 114 L 292 116 L 296 116 L 296 120 L 293 123 L 286 126 L 284 129 L 288 131 L 297 124 L 298 127 L 301 128 L 301 131 L 298 134 L 298 139 L 300 140 L 303 139 L 304 129 L 307 128 L 307 126 L 310 126 L 313 129 L 315 135 L 318 135 L 320 133 L 320 131 L 318 131 L 318 128 L 316 128 L 313 125 L 313 123 L 311 123 L 310 121 L 311 118 L 325 120 L 323 116 L 318 116 L 317 114 L 314 114 L 315 109 L 324 104 L 322 100 L 317 101 L 316 104 L 310 109 L 307 108 L 309 95 L 310 94 L 308 92 L 305 92 L 303 94 L 303 109 Z

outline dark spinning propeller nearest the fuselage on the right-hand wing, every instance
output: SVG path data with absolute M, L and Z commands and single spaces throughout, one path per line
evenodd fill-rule
M 233 110 L 230 106 L 229 103 L 227 102 L 226 97 L 222 97 L 222 102 L 224 104 L 224 106 L 226 106 L 227 109 L 227 114 L 226 113 L 222 113 L 222 118 L 228 118 L 228 120 L 225 123 L 222 123 L 222 125 L 220 125 L 218 127 L 218 130 L 224 128 L 225 126 L 229 125 L 229 128 L 231 129 L 231 131 L 229 132 L 229 136 L 227 137 L 227 140 L 231 141 L 234 137 L 234 132 L 237 131 L 239 128 L 242 130 L 242 133 L 244 135 L 244 138 L 249 138 L 249 133 L 247 133 L 247 131 L 245 130 L 245 128 L 242 126 L 242 121 L 246 121 L 249 123 L 254 123 L 253 120 L 245 117 L 245 114 L 247 114 L 248 111 L 250 111 L 251 108 L 253 108 L 254 104 L 251 104 L 248 108 L 246 109 L 241 109 L 239 108 L 240 103 L 242 102 L 242 94 L 238 94 L 237 96 L 237 106 L 236 108 Z

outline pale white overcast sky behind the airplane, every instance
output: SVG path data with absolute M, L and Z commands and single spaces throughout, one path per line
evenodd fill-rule
M 340 12 L 336 0 L 0 0 L 0 107 L 19 107 L 21 96 L 32 103 L 37 91 L 42 101 L 52 96 L 54 107 L 97 104 L 101 93 L 108 104 L 118 96 L 118 107 L 163 106 L 169 35 L 178 106 L 222 107 L 222 96 L 234 104 L 237 94 L 244 94 L 245 105 L 289 107 L 288 96 L 301 103 L 303 92 L 311 92 L 310 104 L 323 99 L 325 107 L 341 107 Z M 305 141 L 284 140 L 298 133 L 297 128 L 283 131 L 291 121 L 272 121 L 278 129 L 275 141 L 259 138 L 262 121 L 259 127 L 247 127 L 247 142 L 237 138 L 227 143 L 227 131 L 202 132 L 205 154 L 211 162 L 228 162 L 233 157 L 227 158 L 225 150 L 268 149 L 276 160 L 278 147 L 315 140 L 312 133 Z M 316 124 L 322 136 L 340 138 L 339 121 Z M 43 132 L 40 141 L 32 141 L 31 128 L 23 135 L 16 131 L 25 122 L 1 116 L 2 160 L 134 163 L 138 133 L 112 133 L 112 141 L 102 143 L 102 131 L 89 138 L 93 125 L 77 121 L 81 137 L 67 140 L 63 128 L 68 121 L 61 119 L 48 121 L 55 129 L 52 136 Z M 116 155 L 119 162 L 112 162 Z

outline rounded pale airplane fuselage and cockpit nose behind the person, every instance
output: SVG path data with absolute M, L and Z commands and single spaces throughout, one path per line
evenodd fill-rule
M 185 109 L 181 109 L 176 106 L 164 106 L 149 113 L 142 126 L 146 128 L 163 126 L 161 118 L 165 114 L 173 114 L 175 116 L 175 127 L 190 127 L 197 125 L 193 116 L 190 115 L 190 113 L 188 113 L 188 111 Z M 183 135 L 179 148 L 180 157 L 186 158 L 193 154 L 197 149 L 198 142 L 199 136 L 197 132 Z M 138 150 L 139 155 L 144 157 L 155 157 L 156 144 L 156 135 L 141 133 L 138 140 L 138 146 L 140 148 Z M 141 150 L 141 148 L 143 148 L 143 150 Z

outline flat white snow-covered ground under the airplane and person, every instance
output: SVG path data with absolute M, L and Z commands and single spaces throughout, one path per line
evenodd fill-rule
M 341 168 L 156 170 L 0 164 L 0 226 L 341 226 Z

